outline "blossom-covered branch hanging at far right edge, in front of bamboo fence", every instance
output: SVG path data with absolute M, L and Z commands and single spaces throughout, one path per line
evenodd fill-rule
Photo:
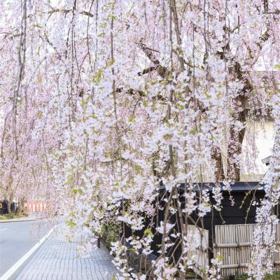
M 277 89 L 279 92 L 279 88 Z M 280 199 L 280 97 L 275 94 L 272 99 L 274 108 L 272 116 L 275 120 L 275 141 L 269 170 L 262 183 L 265 184 L 265 199 L 259 207 L 254 231 L 251 263 L 248 267 L 251 279 L 262 280 L 266 274 L 272 274 L 274 269 L 273 255 L 276 249 L 276 225 L 279 218 L 275 215 L 275 208 Z

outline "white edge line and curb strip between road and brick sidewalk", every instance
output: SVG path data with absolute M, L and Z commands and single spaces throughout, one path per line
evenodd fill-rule
M 20 272 L 22 272 L 25 265 L 27 265 L 30 258 L 38 251 L 38 248 L 52 235 L 54 229 L 55 227 L 42 237 L 22 258 L 20 258 L 20 260 L 18 260 L 18 262 L 15 262 L 15 264 L 0 277 L 0 280 L 15 280 Z

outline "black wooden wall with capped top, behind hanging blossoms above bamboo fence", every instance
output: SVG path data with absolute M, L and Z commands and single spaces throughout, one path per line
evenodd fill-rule
M 197 200 L 200 199 L 200 193 L 202 190 L 207 189 L 209 190 L 209 203 L 212 205 L 216 204 L 212 193 L 212 189 L 215 186 L 214 183 L 196 183 L 193 184 L 193 186 L 195 186 L 195 188 L 193 188 L 192 191 L 196 193 Z M 221 186 L 224 187 L 223 183 L 221 183 Z M 184 193 L 186 193 L 187 188 L 185 184 L 181 184 L 177 187 L 179 201 L 181 202 L 181 208 L 183 209 L 185 204 Z M 143 237 L 147 228 L 153 232 L 153 243 L 151 244 L 153 254 L 151 255 L 151 258 L 157 258 L 158 250 L 162 244 L 162 235 L 157 232 L 156 228 L 160 225 L 161 221 L 165 220 L 167 199 L 169 197 L 169 192 L 165 190 L 165 186 L 159 186 L 158 192 L 158 199 L 155 201 L 155 205 L 158 205 L 157 213 L 153 217 L 148 217 L 145 214 L 143 215 L 146 225 L 145 228 L 143 230 L 132 231 L 129 225 L 124 226 L 125 237 L 130 237 L 132 234 Z M 265 195 L 263 186 L 259 182 L 237 182 L 231 185 L 230 192 L 223 189 L 222 193 L 223 200 L 221 202 L 222 208 L 220 211 L 216 210 L 215 207 L 212 207 L 212 211 L 202 218 L 199 217 L 197 211 L 194 211 L 188 218 L 183 218 L 184 223 L 186 224 L 192 225 L 195 223 L 198 227 L 209 230 L 209 248 L 211 248 L 213 243 L 215 243 L 215 225 L 255 223 L 256 205 L 253 202 L 260 202 Z M 170 214 L 169 216 L 169 222 L 176 224 L 172 233 L 181 231 L 181 225 L 176 223 L 178 218 L 178 212 L 177 214 Z M 172 258 L 178 260 L 181 255 L 182 248 L 181 246 L 177 246 L 179 240 L 172 241 L 174 241 L 176 248 L 169 248 L 169 255 L 172 255 Z M 209 255 L 211 257 L 211 250 L 209 250 Z

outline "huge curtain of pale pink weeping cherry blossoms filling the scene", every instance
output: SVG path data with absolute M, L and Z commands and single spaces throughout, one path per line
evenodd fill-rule
M 241 178 L 248 107 L 260 104 L 265 110 L 272 97 L 273 105 L 279 102 L 274 99 L 279 76 L 269 95 L 260 75 L 251 71 L 261 55 L 279 58 L 279 15 L 267 14 L 263 1 L 244 6 L 222 0 L 133 5 L 77 0 L 61 1 L 57 8 L 28 3 L 22 0 L 26 15 L 22 9 L 20 28 L 8 15 L 0 19 L 6 26 L 0 30 L 0 109 L 8 116 L 14 111 L 6 104 L 15 102 L 18 113 L 16 125 L 9 117 L 1 130 L 1 170 L 10 172 L 0 174 L 8 196 L 40 193 L 50 202 L 65 202 L 67 224 L 83 237 L 78 246 L 83 255 L 113 228 L 118 279 L 184 278 L 189 269 L 219 279 L 217 255 L 210 266 L 196 261 L 203 221 L 211 211 L 221 211 L 221 180 L 227 179 L 230 190 L 230 182 Z M 6 36 L 12 31 L 19 36 Z M 25 79 L 28 106 L 13 98 L 20 96 Z M 14 131 L 18 152 L 11 143 Z M 258 210 L 252 277 L 260 272 L 260 258 L 267 257 L 267 271 L 272 269 L 276 148 L 274 157 Z M 216 182 L 214 189 L 197 192 L 195 182 L 205 181 Z M 23 185 L 38 183 L 39 188 L 24 190 Z M 186 190 L 179 191 L 181 183 Z M 145 262 L 139 265 L 143 269 L 130 266 L 132 252 Z M 158 258 L 151 260 L 152 253 Z

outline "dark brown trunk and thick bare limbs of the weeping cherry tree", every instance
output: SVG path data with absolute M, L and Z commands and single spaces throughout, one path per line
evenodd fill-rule
M 225 32 L 229 30 L 225 27 Z M 260 41 L 257 43 L 258 48 L 262 50 L 263 45 L 269 38 L 268 31 L 265 31 L 262 36 L 260 36 Z M 148 48 L 145 43 L 141 40 L 139 42 L 139 47 L 151 60 L 153 66 L 149 67 L 148 69 L 144 69 L 144 71 L 139 72 L 139 76 L 144 75 L 145 73 L 151 73 L 152 71 L 157 71 L 158 75 L 162 78 L 166 78 L 168 76 L 169 70 L 160 64 L 160 61 L 155 56 L 155 50 Z M 230 45 L 227 43 L 223 48 L 222 51 L 216 52 L 216 55 L 220 57 L 220 59 L 227 60 L 227 52 L 230 52 Z M 248 49 L 248 52 L 251 54 L 251 50 Z M 255 61 L 258 57 L 255 57 Z M 239 125 L 233 123 L 230 126 L 230 139 L 228 141 L 228 155 L 227 155 L 227 176 L 225 176 L 225 169 L 223 167 L 223 160 L 221 156 L 221 149 L 219 147 L 213 146 L 212 149 L 212 158 L 215 161 L 215 179 L 216 181 L 222 181 L 227 177 L 227 179 L 231 179 L 233 181 L 240 181 L 240 167 L 239 167 L 239 160 L 238 158 L 241 156 L 242 152 L 242 144 L 244 140 L 244 135 L 246 132 L 246 119 L 248 116 L 248 98 L 249 94 L 253 91 L 253 85 L 251 85 L 250 81 L 248 80 L 248 72 L 244 72 L 241 70 L 241 65 L 239 62 L 235 62 L 234 59 L 231 61 L 232 63 L 228 63 L 228 65 L 233 65 L 228 68 L 229 73 L 231 73 L 237 80 L 240 80 L 244 83 L 244 87 L 238 92 L 237 97 L 233 100 L 234 104 L 234 113 L 232 113 L 232 119 L 238 120 L 239 123 L 243 126 L 241 129 Z M 130 90 L 130 94 L 132 94 L 133 90 Z M 186 88 L 186 92 L 190 93 L 190 89 Z M 134 93 L 134 92 L 133 92 Z M 141 95 L 141 92 L 139 92 Z M 200 110 L 202 113 L 207 111 L 207 108 L 203 106 L 203 104 L 195 99 L 194 97 L 190 96 L 190 101 L 194 102 L 197 106 L 197 109 Z

